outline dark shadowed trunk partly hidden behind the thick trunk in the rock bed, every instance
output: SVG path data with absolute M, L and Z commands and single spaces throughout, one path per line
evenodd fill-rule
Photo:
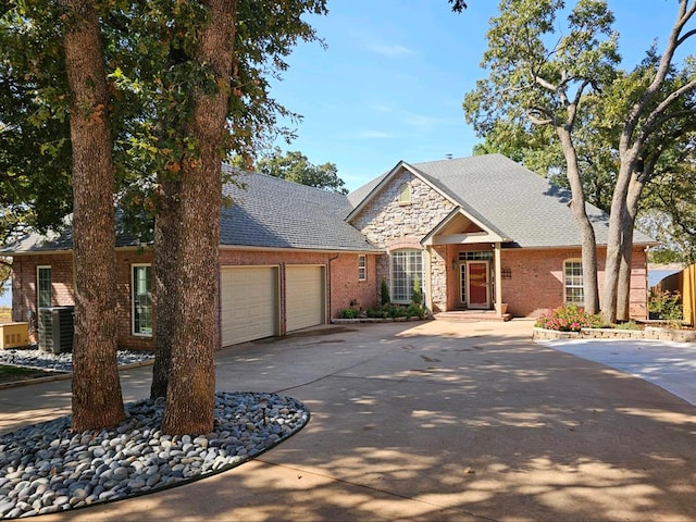
M 154 221 L 154 364 L 150 398 L 166 397 L 174 339 L 174 318 L 179 299 L 176 282 L 181 181 L 159 177 Z

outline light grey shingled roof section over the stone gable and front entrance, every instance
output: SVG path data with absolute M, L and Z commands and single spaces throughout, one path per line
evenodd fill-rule
M 525 248 L 570 247 L 582 244 L 570 209 L 571 192 L 502 154 L 399 163 L 389 173 L 356 190 L 353 209 L 364 204 L 378 184 L 400 167 L 408 169 L 439 190 L 488 229 L 508 237 L 508 246 Z M 587 203 L 597 245 L 606 245 L 609 217 Z M 634 244 L 656 241 L 635 232 Z

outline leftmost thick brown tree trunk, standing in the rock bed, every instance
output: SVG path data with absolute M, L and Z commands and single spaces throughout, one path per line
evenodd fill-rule
M 116 362 L 114 167 L 109 95 L 92 2 L 67 2 L 65 67 L 71 90 L 75 339 L 73 430 L 116 425 L 125 414 Z

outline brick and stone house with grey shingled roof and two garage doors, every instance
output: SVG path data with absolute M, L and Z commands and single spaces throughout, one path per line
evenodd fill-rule
M 409 303 L 419 279 L 434 312 L 495 310 L 538 314 L 582 303 L 580 235 L 570 195 L 511 160 L 490 154 L 399 162 L 346 196 L 256 173 L 226 185 L 221 210 L 222 345 L 323 324 L 340 310 L 375 306 L 383 279 Z M 587 211 L 602 270 L 607 216 Z M 631 314 L 646 316 L 646 247 L 636 234 Z M 72 304 L 71 229 L 30 235 L 13 257 L 13 315 Z M 119 344 L 152 346 L 152 250 L 116 241 Z M 601 274 L 600 274 L 601 281 Z

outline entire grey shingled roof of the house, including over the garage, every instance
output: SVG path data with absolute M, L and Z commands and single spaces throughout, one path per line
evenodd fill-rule
M 237 183 L 223 188 L 233 204 L 221 209 L 222 246 L 380 252 L 350 225 L 350 215 L 368 204 L 381 184 L 401 169 L 420 176 L 489 231 L 509 238 L 508 247 L 574 247 L 582 243 L 569 207 L 570 191 L 502 154 L 413 164 L 400 161 L 348 197 L 264 174 L 225 169 Z M 586 209 L 597 245 L 606 245 L 608 215 L 592 204 Z M 655 243 L 635 232 L 634 244 Z M 138 245 L 138 239 L 125 232 L 117 234 L 117 247 Z M 60 233 L 30 234 L 0 252 L 70 249 L 72 229 L 66 221 Z

